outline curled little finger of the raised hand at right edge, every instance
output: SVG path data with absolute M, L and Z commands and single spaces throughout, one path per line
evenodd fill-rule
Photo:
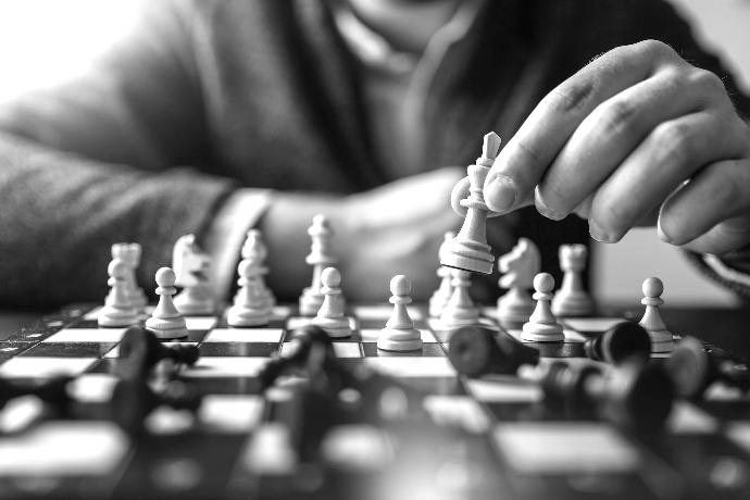
M 750 241 L 750 160 L 703 168 L 666 200 L 659 236 L 701 253 L 725 253 Z

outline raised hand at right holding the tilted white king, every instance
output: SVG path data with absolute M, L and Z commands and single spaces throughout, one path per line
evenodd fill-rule
M 576 213 L 607 242 L 658 223 L 664 241 L 721 254 L 750 242 L 750 130 L 713 73 L 659 41 L 620 47 L 541 100 L 485 199 L 500 213 Z

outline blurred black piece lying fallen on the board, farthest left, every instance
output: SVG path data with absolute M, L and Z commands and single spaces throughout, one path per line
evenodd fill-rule
M 117 372 L 123 378 L 147 376 L 151 368 L 163 359 L 192 365 L 200 352 L 191 343 L 164 346 L 153 333 L 141 326 L 129 327 L 120 342 Z

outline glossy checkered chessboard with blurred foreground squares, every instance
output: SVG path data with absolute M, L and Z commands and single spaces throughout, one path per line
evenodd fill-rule
M 391 305 L 347 308 L 352 335 L 330 340 L 337 366 L 367 370 L 359 393 L 326 395 L 296 374 L 266 386 L 264 366 L 292 355 L 293 333 L 310 323 L 296 307 L 276 305 L 267 325 L 252 328 L 228 327 L 226 311 L 188 315 L 187 337 L 163 346 L 195 346 L 199 355 L 159 361 L 149 374 L 152 387 L 171 387 L 176 399 L 191 395 L 187 410 L 172 409 L 155 389 L 121 390 L 127 328 L 99 327 L 99 310 L 72 305 L 0 342 L 0 382 L 36 387 L 63 375 L 70 397 L 64 411 L 43 397 L 3 399 L 0 498 L 750 495 L 750 398 L 728 386 L 711 386 L 701 400 L 675 399 L 663 425 L 636 432 L 612 415 L 549 404 L 530 378 L 460 373 L 450 358 L 454 332 L 440 329 L 423 304 L 409 307 L 423 340 L 411 352 L 377 348 Z M 483 310 L 482 330 L 517 341 L 520 333 L 503 330 L 495 314 Z M 561 321 L 563 342 L 523 343 L 538 349 L 539 365 L 602 365 L 587 357 L 586 342 L 623 317 Z M 318 375 L 323 385 L 335 378 Z M 378 404 L 343 412 L 351 417 L 328 412 L 373 393 Z M 134 407 L 146 409 L 135 428 L 124 425 Z

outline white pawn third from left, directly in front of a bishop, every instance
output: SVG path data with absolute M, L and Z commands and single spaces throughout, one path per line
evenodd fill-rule
M 229 326 L 261 326 L 271 320 L 268 298 L 261 283 L 262 270 L 250 259 L 243 259 L 237 266 L 240 286 L 235 302 L 227 312 Z

